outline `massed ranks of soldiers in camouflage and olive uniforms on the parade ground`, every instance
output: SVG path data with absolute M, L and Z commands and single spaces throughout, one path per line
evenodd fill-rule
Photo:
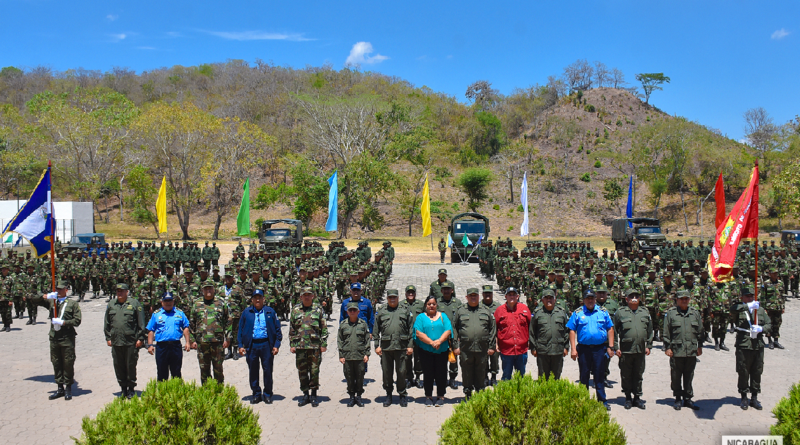
M 224 381 L 223 361 L 241 355 L 237 353 L 241 348 L 239 321 L 254 294 L 263 295 L 265 306 L 289 324 L 290 348 L 303 392 L 300 406 L 319 405 L 319 369 L 327 349 L 327 321 L 334 298 L 342 305 L 337 342 L 351 397 L 349 406 L 363 406 L 360 397 L 372 342 L 381 362 L 387 394 L 384 406 L 393 403 L 394 391 L 400 405 L 406 406 L 408 388 L 423 387 L 413 326 L 425 308 L 413 285 L 405 288 L 405 298 L 399 290 L 386 289 L 395 255 L 390 242 L 383 243 L 374 255 L 366 242 L 352 250 L 338 241 L 331 242 L 327 250 L 315 241 L 281 243 L 268 250 L 255 243 L 246 249 L 240 242 L 225 265 L 218 264 L 216 245 L 205 243 L 200 250 L 196 243 L 184 243 L 183 247 L 161 244 L 137 243 L 133 247 L 114 243 L 84 252 L 59 251 L 58 290 L 49 294 L 49 262 L 13 252 L 3 259 L 0 298 L 7 304 L 0 308 L 4 330 L 9 330 L 14 318 L 23 318 L 26 309 L 29 322 L 35 323 L 36 307 L 44 306 L 50 308 L 48 318 L 53 319 L 51 340 L 65 345 L 54 347 L 56 352 L 51 354 L 59 383 L 59 391 L 51 398 L 71 398 L 74 333 L 80 324 L 77 303 L 89 292 L 92 298 L 104 294 L 109 299 L 106 338 L 115 369 L 119 368 L 120 396 L 133 396 L 138 349 L 153 346 L 147 344 L 153 340 L 148 340 L 145 321 L 151 320 L 153 325 L 153 320 L 167 307 L 173 311 L 173 306 L 175 313 L 186 319 L 184 338 L 187 350 L 197 350 L 201 380 Z M 691 401 L 694 359 L 712 337 L 716 351 L 729 351 L 726 334 L 735 333 L 742 408 L 760 409 L 757 394 L 763 349 L 783 349 L 779 342 L 781 314 L 790 292 L 798 295 L 800 245 L 765 243 L 759 247 L 756 261 L 755 249 L 745 241 L 733 279 L 714 283 L 703 258 L 709 247 L 703 244 L 675 242 L 654 257 L 643 251 L 625 255 L 603 249 L 600 253 L 588 242 L 527 242 L 521 250 L 509 239 L 498 239 L 495 245 L 486 242 L 478 247 L 476 256 L 481 273 L 488 281 L 496 280 L 497 288 L 487 284 L 482 289 L 467 289 L 464 304 L 456 297 L 447 270 L 440 269 L 426 289 L 452 323 L 449 343 L 457 359 L 450 360 L 448 386 L 457 388 L 459 373 L 466 397 L 496 384 L 501 356 L 498 337 L 503 335 L 496 317 L 505 303 L 495 301 L 497 292 L 524 301 L 522 307 L 530 309 L 524 349 L 537 358 L 539 374 L 548 378 L 560 377 L 563 357 L 569 353 L 566 320 L 574 312 L 586 310 L 587 298 L 596 298 L 599 309 L 613 321 L 616 335 L 610 347 L 619 357 L 625 408 L 644 408 L 641 380 L 645 357 L 655 341 L 663 342 L 670 358 L 675 408 L 697 409 Z M 184 250 L 193 253 L 174 256 Z M 68 288 L 77 301 L 64 299 Z M 112 289 L 117 297 L 113 301 Z M 755 290 L 757 302 L 753 301 Z M 59 303 L 64 304 L 64 315 L 54 317 Z M 181 338 L 180 332 L 176 338 Z M 605 363 L 606 376 L 609 362 Z M 612 387 L 607 378 L 604 383 Z

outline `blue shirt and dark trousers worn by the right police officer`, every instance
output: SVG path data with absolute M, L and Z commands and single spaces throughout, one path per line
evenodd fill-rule
M 606 365 L 611 357 L 608 348 L 608 330 L 614 327 L 605 308 L 595 305 L 591 311 L 581 306 L 572 313 L 567 328 L 577 337 L 578 368 L 581 384 L 589 388 L 589 373 L 594 376 L 597 400 L 606 403 Z M 608 406 L 608 405 L 606 405 Z

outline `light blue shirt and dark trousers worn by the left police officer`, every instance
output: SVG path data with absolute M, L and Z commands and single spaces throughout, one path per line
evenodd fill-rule
M 155 334 L 156 369 L 159 381 L 167 380 L 170 375 L 180 378 L 183 365 L 181 338 L 183 330 L 188 327 L 189 319 L 178 308 L 173 308 L 169 312 L 159 309 L 150 317 L 147 330 Z

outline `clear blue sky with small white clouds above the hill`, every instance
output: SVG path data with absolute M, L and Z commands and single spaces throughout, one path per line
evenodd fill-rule
M 141 72 L 260 58 L 339 69 L 352 57 L 463 100 L 475 80 L 510 93 L 585 58 L 631 83 L 665 73 L 654 105 L 735 139 L 749 108 L 778 124 L 800 114 L 800 2 L 522 3 L 3 0 L 0 66 Z

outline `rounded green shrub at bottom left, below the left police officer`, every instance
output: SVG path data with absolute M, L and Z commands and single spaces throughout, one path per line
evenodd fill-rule
M 92 420 L 84 417 L 76 444 L 257 444 L 258 415 L 232 386 L 208 379 L 151 380 L 141 397 L 114 399 Z

